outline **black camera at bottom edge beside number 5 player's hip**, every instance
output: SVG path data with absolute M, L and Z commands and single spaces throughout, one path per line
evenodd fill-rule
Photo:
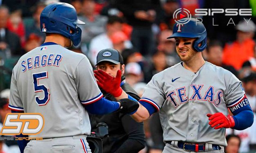
M 87 142 L 90 146 L 91 153 L 102 153 L 102 140 L 109 134 L 108 126 L 106 123 L 100 122 L 96 127 L 96 132 L 91 132 L 91 135 L 87 136 Z

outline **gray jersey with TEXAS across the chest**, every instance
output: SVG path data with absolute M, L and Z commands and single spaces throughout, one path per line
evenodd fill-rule
M 245 99 L 242 83 L 231 72 L 206 62 L 196 74 L 178 63 L 154 75 L 140 101 L 159 110 L 164 141 L 226 146 L 226 129 L 211 128 L 206 114 L 227 115 L 227 107 L 236 109 Z

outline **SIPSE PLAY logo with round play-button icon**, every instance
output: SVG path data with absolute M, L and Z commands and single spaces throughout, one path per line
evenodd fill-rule
M 200 22 L 203 22 L 203 18 L 202 16 L 213 16 L 212 18 L 212 25 L 213 26 L 218 26 L 218 24 L 214 24 L 214 15 L 215 14 L 220 14 L 220 13 L 225 13 L 225 16 L 252 16 L 252 9 L 195 9 L 195 16 L 197 20 L 199 20 Z M 188 20 L 183 20 L 180 21 L 180 19 L 183 18 L 188 18 Z M 191 20 L 191 13 L 189 12 L 189 10 L 187 9 L 176 9 L 176 11 L 174 11 L 173 14 L 173 18 L 174 21 L 177 24 L 186 24 Z M 244 18 L 245 20 L 245 18 Z M 251 20 L 251 18 L 249 18 L 249 20 Z M 248 20 L 248 22 L 249 22 Z M 247 22 L 247 20 L 245 20 Z M 247 22 L 247 23 L 248 23 Z M 236 25 L 232 19 L 232 17 L 230 17 L 229 21 L 227 22 L 227 26 L 229 24 L 234 24 L 234 26 Z

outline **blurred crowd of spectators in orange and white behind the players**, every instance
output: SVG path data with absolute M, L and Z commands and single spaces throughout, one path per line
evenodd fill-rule
M 154 74 L 180 62 L 175 40 L 166 39 L 175 24 L 178 8 L 252 8 L 252 16 L 204 16 L 208 45 L 203 57 L 232 72 L 243 88 L 256 114 L 256 2 L 254 0 L 0 0 L 0 118 L 8 109 L 11 73 L 19 57 L 40 46 L 40 13 L 47 4 L 72 4 L 81 25 L 82 42 L 74 52 L 85 54 L 93 68 L 98 52 L 115 48 L 124 58 L 125 77 L 141 96 Z M 230 19 L 231 18 L 231 19 Z M 232 20 L 232 22 L 230 22 Z M 213 23 L 214 22 L 214 23 Z M 228 24 L 230 23 L 230 24 Z M 218 24 L 218 26 L 216 26 Z M 158 114 L 144 122 L 147 146 L 141 153 L 161 153 L 164 147 Z M 226 153 L 256 151 L 256 121 L 252 127 L 227 129 Z M 13 149 L 12 151 L 10 151 Z M 1 152 L 2 150 L 2 152 Z M 0 141 L 0 153 L 18 153 L 17 144 Z

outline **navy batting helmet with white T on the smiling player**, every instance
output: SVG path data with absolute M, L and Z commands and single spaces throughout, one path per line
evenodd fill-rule
M 189 20 L 189 18 L 180 19 L 181 22 L 185 20 Z M 193 47 L 198 52 L 202 52 L 207 46 L 207 32 L 205 26 L 195 18 L 191 18 L 186 24 L 174 24 L 173 35 L 167 39 L 175 37 L 197 38 L 193 43 Z M 202 45 L 199 47 L 199 44 Z

